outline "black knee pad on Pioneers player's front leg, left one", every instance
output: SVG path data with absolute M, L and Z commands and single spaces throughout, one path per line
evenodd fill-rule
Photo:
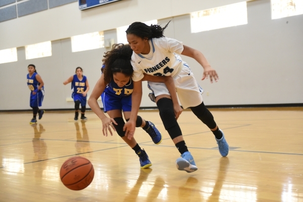
M 163 97 L 158 100 L 157 106 L 165 130 L 178 125 L 171 99 Z

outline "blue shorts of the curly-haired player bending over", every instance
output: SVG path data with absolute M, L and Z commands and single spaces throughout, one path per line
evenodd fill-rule
M 120 96 L 103 92 L 101 94 L 104 112 L 111 110 L 123 110 L 123 112 L 132 111 L 132 95 Z

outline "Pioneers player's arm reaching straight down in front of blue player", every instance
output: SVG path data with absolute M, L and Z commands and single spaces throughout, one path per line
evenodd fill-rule
M 134 90 L 132 93 L 132 112 L 131 117 L 125 123 L 123 127 L 123 131 L 125 131 L 125 136 L 128 139 L 132 139 L 134 137 L 135 128 L 136 128 L 136 120 L 141 104 L 142 99 L 142 80 L 134 81 Z

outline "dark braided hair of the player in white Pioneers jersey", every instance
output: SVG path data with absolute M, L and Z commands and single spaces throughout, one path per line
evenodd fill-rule
M 151 24 L 148 26 L 142 22 L 134 22 L 126 29 L 126 34 L 135 34 L 144 39 L 164 37 L 164 29 L 169 22 L 163 28 L 160 25 Z

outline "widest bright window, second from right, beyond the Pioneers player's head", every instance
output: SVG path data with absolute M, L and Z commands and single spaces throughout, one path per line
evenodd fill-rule
M 247 24 L 246 2 L 191 13 L 191 32 Z

